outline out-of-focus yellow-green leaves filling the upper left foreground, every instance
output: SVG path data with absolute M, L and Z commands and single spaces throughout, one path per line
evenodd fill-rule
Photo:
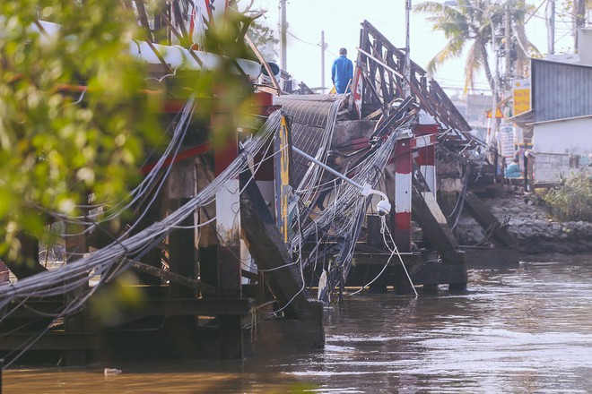
M 2 255 L 18 257 L 21 232 L 51 241 L 40 212 L 79 215 L 89 193 L 120 201 L 137 181 L 143 147 L 161 133 L 129 55 L 136 29 L 118 0 L 0 3 Z

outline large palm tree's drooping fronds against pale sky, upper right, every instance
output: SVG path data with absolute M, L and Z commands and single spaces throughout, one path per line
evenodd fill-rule
M 538 52 L 526 39 L 524 17 L 530 6 L 523 0 L 508 0 L 510 19 L 518 35 L 518 60 L 526 59 L 529 52 Z M 488 4 L 481 0 L 459 0 L 455 6 L 427 1 L 414 7 L 416 13 L 428 13 L 426 19 L 433 23 L 433 30 L 444 32 L 448 43 L 431 59 L 427 65 L 429 73 L 435 73 L 438 65 L 448 59 L 462 56 L 466 45 L 468 48 L 465 63 L 465 89 L 473 87 L 475 73 L 483 69 L 490 87 L 494 90 L 494 76 L 489 65 L 486 46 L 492 42 L 492 22 L 496 29 L 504 17 L 503 6 Z M 496 34 L 496 44 L 497 42 Z M 498 54 L 495 54 L 497 56 Z M 522 68 L 522 67 L 519 67 Z

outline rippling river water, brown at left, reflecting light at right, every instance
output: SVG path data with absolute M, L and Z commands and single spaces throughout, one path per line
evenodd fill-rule
M 465 293 L 355 295 L 326 347 L 242 362 L 11 369 L 5 393 L 592 393 L 592 255 L 469 271 Z

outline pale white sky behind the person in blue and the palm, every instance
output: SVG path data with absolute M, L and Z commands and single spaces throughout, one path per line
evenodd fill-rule
M 531 0 L 538 6 L 546 0 Z M 412 0 L 413 2 L 413 0 Z M 413 3 L 414 4 L 418 4 Z M 279 0 L 256 0 L 256 7 L 267 10 L 259 19 L 274 29 L 279 23 Z M 412 6 L 413 6 L 412 5 Z M 321 86 L 321 70 L 325 70 L 326 85 L 331 84 L 331 64 L 339 48 L 345 47 L 348 57 L 356 58 L 359 46 L 361 22 L 370 21 L 396 47 L 405 47 L 405 0 L 289 0 L 287 5 L 288 48 L 287 72 L 309 87 Z M 527 23 L 527 36 L 541 52 L 546 52 L 546 27 L 544 9 L 541 6 L 535 17 Z M 569 51 L 573 47 L 570 24 L 556 22 L 555 52 Z M 328 45 L 325 66 L 321 64 L 321 31 L 325 31 Z M 564 36 L 564 37 L 562 37 Z M 277 36 L 279 38 L 279 35 Z M 425 68 L 426 64 L 446 44 L 444 34 L 433 31 L 431 23 L 422 13 L 411 12 L 410 19 L 411 58 Z M 278 50 L 279 53 L 279 50 Z M 279 58 L 278 58 L 279 60 Z M 442 64 L 433 78 L 448 92 L 464 86 L 464 61 L 455 59 Z M 330 86 L 328 86 L 330 88 Z M 481 75 L 474 85 L 475 90 L 489 91 L 489 84 Z

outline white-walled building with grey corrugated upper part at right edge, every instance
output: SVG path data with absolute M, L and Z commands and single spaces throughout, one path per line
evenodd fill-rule
M 535 184 L 554 184 L 590 167 L 592 31 L 580 31 L 580 55 L 531 59 L 531 109 L 510 120 L 532 129 Z

